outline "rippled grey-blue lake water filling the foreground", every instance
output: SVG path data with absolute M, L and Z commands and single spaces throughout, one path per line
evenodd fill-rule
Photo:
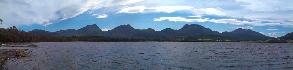
M 30 57 L 8 60 L 4 68 L 16 70 L 293 69 L 293 43 L 46 42 L 33 44 L 39 47 L 1 48 L 25 48 L 31 53 Z

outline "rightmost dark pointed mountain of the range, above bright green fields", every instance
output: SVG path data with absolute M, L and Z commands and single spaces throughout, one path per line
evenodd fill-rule
M 263 34 L 260 34 L 259 32 L 255 32 L 251 29 L 242 29 L 242 28 L 236 29 L 231 32 L 225 31 L 220 34 L 227 35 L 227 36 L 234 36 L 236 38 L 246 39 L 246 40 L 259 40 L 259 39 L 272 39 L 272 38 L 274 38 L 274 37 L 265 36 Z

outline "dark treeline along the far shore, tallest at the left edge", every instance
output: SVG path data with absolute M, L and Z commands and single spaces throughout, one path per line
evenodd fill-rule
M 0 28 L 0 43 L 2 42 L 69 42 L 69 41 L 91 41 L 91 42 L 134 42 L 134 41 L 182 41 L 191 42 L 199 41 L 194 37 L 183 38 L 151 38 L 151 39 L 136 39 L 136 38 L 110 38 L 104 36 L 69 36 L 55 37 L 50 35 L 35 35 L 30 32 L 17 29 L 15 26 L 4 29 Z M 206 40 L 204 42 L 240 42 L 240 41 L 216 41 Z

